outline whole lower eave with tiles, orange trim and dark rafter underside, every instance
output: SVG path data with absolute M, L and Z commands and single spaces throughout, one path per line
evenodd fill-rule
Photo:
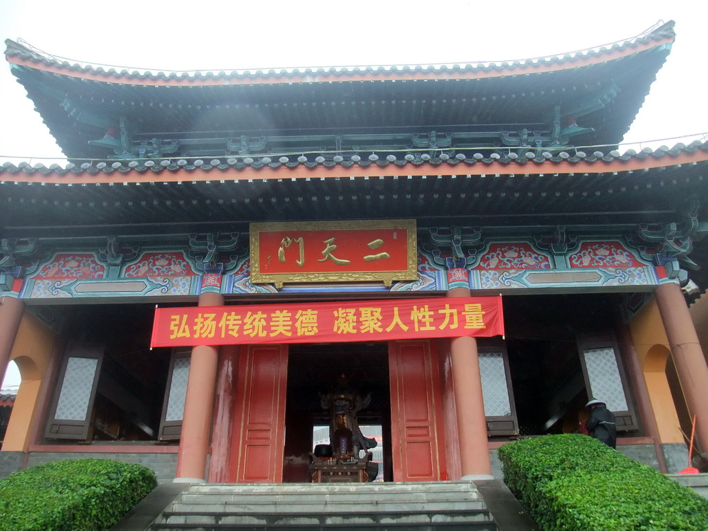
M 219 160 L 64 169 L 4 164 L 1 236 L 126 234 L 142 230 L 136 224 L 147 232 L 168 225 L 203 232 L 244 230 L 256 221 L 401 217 L 430 225 L 676 222 L 695 198 L 706 211 L 708 142 L 566 155 L 259 167 Z

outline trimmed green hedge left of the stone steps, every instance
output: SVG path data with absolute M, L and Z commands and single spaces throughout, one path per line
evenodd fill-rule
M 40 464 L 0 480 L 0 530 L 107 530 L 156 485 L 152 470 L 139 464 L 109 459 Z

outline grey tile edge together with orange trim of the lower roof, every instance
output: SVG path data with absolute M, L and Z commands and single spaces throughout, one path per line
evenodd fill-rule
M 592 149 L 592 148 L 590 148 Z M 636 152 L 629 149 L 620 154 L 617 150 L 601 152 L 582 149 L 569 151 L 544 151 L 540 154 L 527 152 L 522 156 L 513 152 L 508 154 L 481 152 L 459 153 L 454 157 L 442 153 L 430 156 L 427 152 L 416 157 L 400 154 L 386 157 L 372 153 L 370 156 L 351 156 L 344 159 L 334 156 L 327 161 L 317 157 L 314 161 L 304 156 L 238 156 L 215 159 L 164 159 L 132 161 L 87 161 L 82 164 L 69 163 L 63 168 L 58 164 L 47 167 L 43 164 L 30 165 L 25 162 L 17 166 L 6 162 L 0 166 L 0 180 L 3 181 L 46 181 L 52 182 L 122 182 L 122 181 L 177 181 L 195 178 L 194 173 L 205 180 L 227 178 L 245 180 L 252 178 L 309 178 L 309 177 L 346 177 L 362 175 L 362 170 L 381 175 L 422 175 L 424 173 L 604 173 L 607 171 L 631 171 L 675 164 L 688 164 L 708 161 L 708 141 L 695 141 L 690 144 L 676 144 L 651 149 L 646 147 Z M 612 169 L 610 169 L 610 166 Z M 279 169 L 301 169 L 304 173 L 297 176 L 292 172 L 287 175 L 278 173 Z M 315 170 L 329 170 L 329 173 L 314 173 Z M 259 171 L 258 175 L 251 170 Z M 311 174 L 307 170 L 312 171 Z M 423 170 L 421 173 L 420 170 Z M 219 176 L 219 172 L 229 171 L 228 177 Z M 212 176 L 211 173 L 217 173 Z M 367 172 L 368 174 L 369 172 Z M 189 176 L 187 176 L 189 174 Z M 69 179 L 72 177 L 78 180 Z M 56 180 L 53 178 L 57 178 Z

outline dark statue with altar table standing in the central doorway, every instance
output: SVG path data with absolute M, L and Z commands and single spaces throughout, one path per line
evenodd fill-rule
M 329 411 L 330 444 L 317 445 L 311 454 L 312 481 L 374 481 L 379 465 L 371 462 L 369 450 L 377 446 L 377 441 L 364 436 L 357 418 L 358 413 L 369 405 L 371 394 L 362 396 L 350 386 L 346 375 L 341 375 L 337 387 L 320 397 L 322 408 Z

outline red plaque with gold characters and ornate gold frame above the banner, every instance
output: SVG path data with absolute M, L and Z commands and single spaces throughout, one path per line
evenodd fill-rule
M 414 219 L 251 223 L 251 282 L 361 282 L 418 278 Z

